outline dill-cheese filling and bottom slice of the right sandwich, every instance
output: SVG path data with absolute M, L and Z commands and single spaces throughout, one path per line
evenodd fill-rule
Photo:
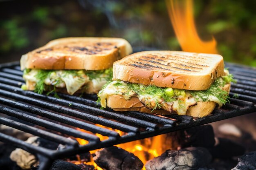
M 116 111 L 140 111 L 159 115 L 189 115 L 204 117 L 218 105 L 228 100 L 233 76 L 225 70 L 225 76 L 218 77 L 205 91 L 190 91 L 162 88 L 116 80 L 108 82 L 98 94 L 101 107 Z

